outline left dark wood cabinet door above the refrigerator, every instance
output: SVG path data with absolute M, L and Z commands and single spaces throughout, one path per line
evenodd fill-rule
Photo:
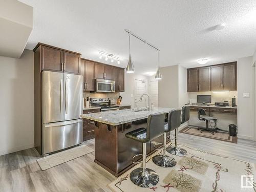
M 63 51 L 41 46 L 41 70 L 62 71 Z

